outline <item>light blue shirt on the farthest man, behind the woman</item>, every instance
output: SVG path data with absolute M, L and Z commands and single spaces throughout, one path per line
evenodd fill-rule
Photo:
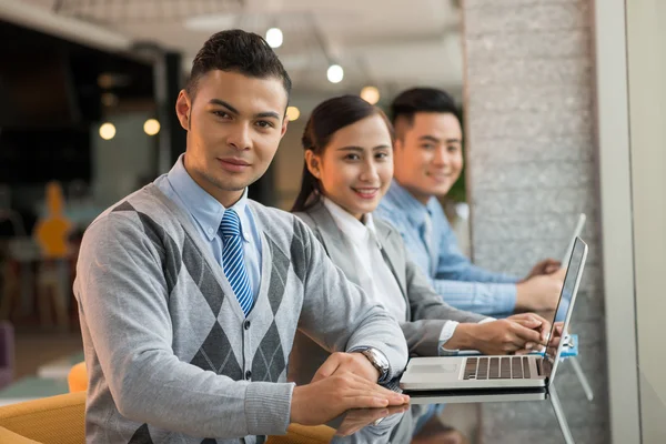
M 486 315 L 514 311 L 518 279 L 470 262 L 434 196 L 424 205 L 394 180 L 375 216 L 395 225 L 411 259 L 431 278 L 434 289 L 450 305 Z

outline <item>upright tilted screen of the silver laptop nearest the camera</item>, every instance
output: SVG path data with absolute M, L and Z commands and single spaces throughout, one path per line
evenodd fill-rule
M 578 292 L 578 284 L 581 283 L 581 276 L 583 274 L 583 268 L 585 266 L 586 258 L 587 245 L 581 240 L 581 238 L 576 238 L 569 263 L 566 269 L 564 284 L 562 285 L 562 293 L 559 294 L 559 302 L 562 302 L 563 299 L 567 299 L 569 301 L 569 306 L 564 320 L 564 333 L 568 331 L 568 324 L 574 310 L 574 303 L 576 302 L 576 293 Z M 557 309 L 559 309 L 559 302 L 557 303 Z M 555 310 L 555 312 L 557 312 L 557 309 Z M 553 327 L 551 329 L 551 335 L 548 337 L 548 344 L 546 345 L 547 359 L 544 360 L 544 364 L 546 375 L 548 376 L 548 380 L 552 380 L 555 375 L 557 362 L 559 361 L 559 354 L 562 353 L 562 349 L 564 346 L 564 341 L 555 340 L 555 323 L 553 323 Z M 548 363 L 551 365 L 548 365 Z

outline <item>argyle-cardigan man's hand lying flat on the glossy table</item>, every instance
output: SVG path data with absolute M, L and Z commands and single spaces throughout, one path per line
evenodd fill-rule
M 392 392 L 357 374 L 336 371 L 317 382 L 294 387 L 290 422 L 320 425 L 350 408 L 383 408 L 408 402 L 407 395 Z

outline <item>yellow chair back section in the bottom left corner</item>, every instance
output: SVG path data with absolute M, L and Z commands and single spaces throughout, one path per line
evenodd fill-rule
M 85 392 L 0 407 L 0 443 L 83 444 Z

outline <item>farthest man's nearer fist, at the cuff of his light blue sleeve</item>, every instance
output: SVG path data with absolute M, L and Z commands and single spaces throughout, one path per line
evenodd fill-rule
M 563 278 L 566 271 L 561 269 L 553 274 L 542 274 L 516 284 L 516 309 L 519 311 L 555 310 Z

